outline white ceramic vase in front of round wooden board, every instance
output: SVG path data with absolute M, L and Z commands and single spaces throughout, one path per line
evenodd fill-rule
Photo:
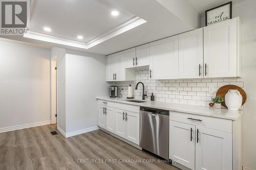
M 242 106 L 242 100 L 242 95 L 238 90 L 228 90 L 225 95 L 225 103 L 228 110 L 239 110 Z

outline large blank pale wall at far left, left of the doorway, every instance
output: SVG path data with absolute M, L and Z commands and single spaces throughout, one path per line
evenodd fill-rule
M 0 40 L 0 129 L 50 120 L 50 56 Z

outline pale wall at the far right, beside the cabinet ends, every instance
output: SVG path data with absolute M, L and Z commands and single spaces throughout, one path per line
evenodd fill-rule
M 232 17 L 242 21 L 242 75 L 247 101 L 243 114 L 243 165 L 256 169 L 256 1 L 233 5 Z M 201 26 L 205 17 L 201 18 Z

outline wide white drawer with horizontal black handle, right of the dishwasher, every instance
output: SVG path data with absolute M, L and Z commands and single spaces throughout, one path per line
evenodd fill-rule
M 170 111 L 170 119 L 177 122 L 232 133 L 232 120 L 173 111 Z

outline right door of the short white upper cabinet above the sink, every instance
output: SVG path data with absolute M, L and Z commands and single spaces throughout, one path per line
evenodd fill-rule
M 144 44 L 136 47 L 135 64 L 137 66 L 150 65 L 150 44 Z

